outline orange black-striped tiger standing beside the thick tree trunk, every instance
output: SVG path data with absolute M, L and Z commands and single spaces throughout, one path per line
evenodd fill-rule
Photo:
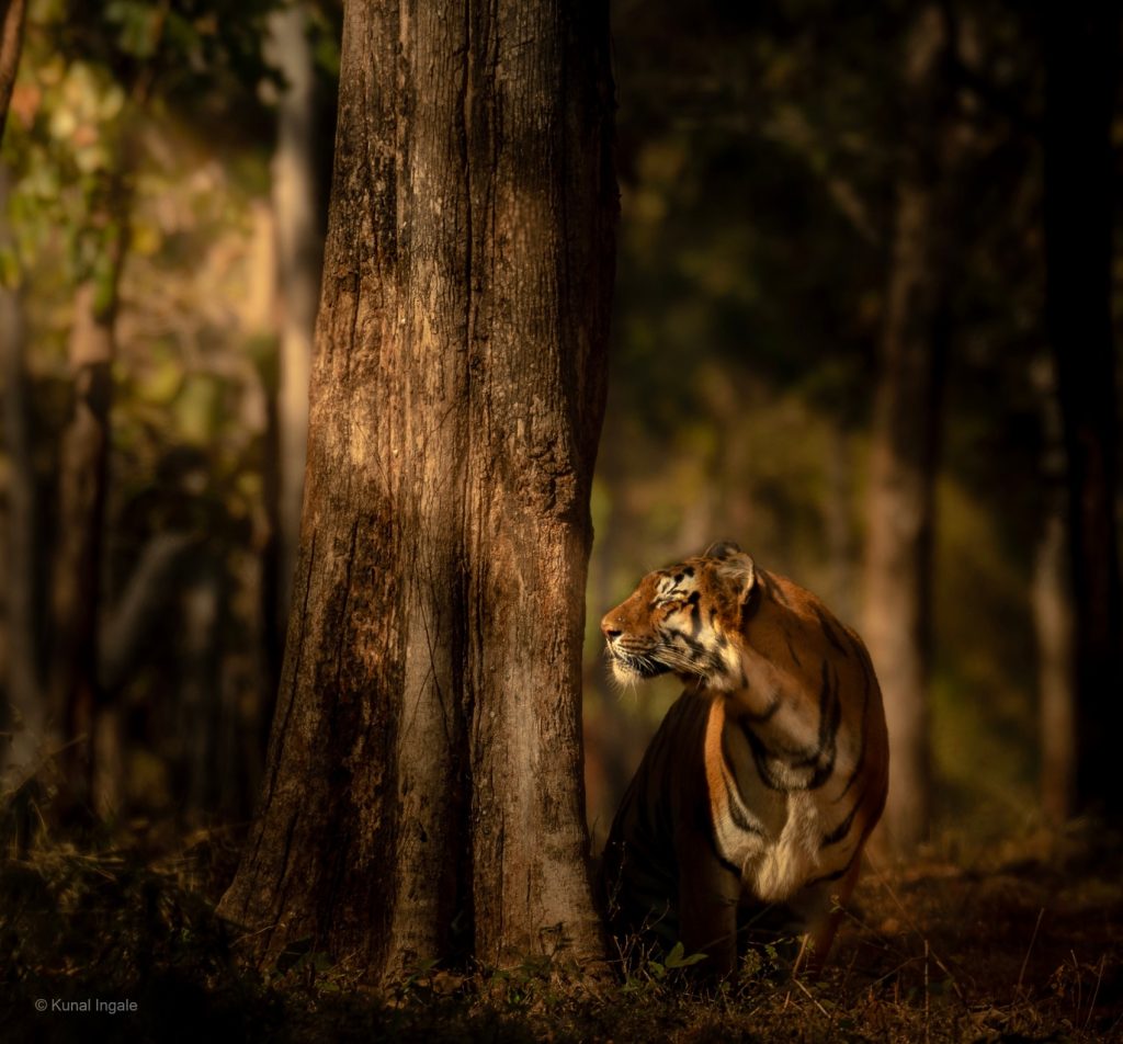
M 645 576 L 601 631 L 618 681 L 674 674 L 686 686 L 602 858 L 621 952 L 623 941 L 679 942 L 725 977 L 739 938 L 770 926 L 789 940 L 791 972 L 818 973 L 888 789 L 861 639 L 732 541 Z

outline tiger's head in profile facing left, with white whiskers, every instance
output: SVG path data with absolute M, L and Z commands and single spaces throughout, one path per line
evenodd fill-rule
M 601 621 L 617 679 L 673 672 L 700 688 L 743 686 L 742 633 L 757 590 L 752 559 L 731 541 L 649 573 Z

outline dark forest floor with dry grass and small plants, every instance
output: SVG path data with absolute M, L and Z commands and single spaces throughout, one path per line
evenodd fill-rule
M 746 968 L 710 991 L 654 962 L 592 991 L 550 961 L 381 993 L 326 954 L 258 972 L 213 912 L 228 835 L 157 833 L 7 840 L 0 1040 L 1123 1041 L 1123 844 L 1087 824 L 867 869 L 820 979 Z

